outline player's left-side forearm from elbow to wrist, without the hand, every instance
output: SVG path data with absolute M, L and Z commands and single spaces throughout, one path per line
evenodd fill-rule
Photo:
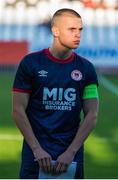
M 23 109 L 13 110 L 13 118 L 32 151 L 34 151 L 36 148 L 41 148 L 33 133 L 32 127 L 25 111 Z

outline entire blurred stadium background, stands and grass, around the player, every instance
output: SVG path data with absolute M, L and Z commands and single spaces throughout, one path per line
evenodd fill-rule
M 11 116 L 11 89 L 21 58 L 50 46 L 50 18 L 59 8 L 83 18 L 76 50 L 99 76 L 100 111 L 85 143 L 85 177 L 118 178 L 118 0 L 0 0 L 0 178 L 18 178 L 22 136 Z

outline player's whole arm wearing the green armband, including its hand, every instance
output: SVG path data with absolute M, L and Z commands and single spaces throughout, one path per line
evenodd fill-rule
M 86 87 L 83 95 L 84 120 L 79 126 L 76 136 L 68 149 L 58 157 L 56 172 L 59 172 L 60 168 L 62 169 L 62 171 L 67 169 L 67 166 L 73 161 L 75 154 L 95 127 L 97 121 L 98 106 L 99 100 L 97 86 L 90 85 Z M 67 166 L 64 166 L 64 164 L 66 164 Z

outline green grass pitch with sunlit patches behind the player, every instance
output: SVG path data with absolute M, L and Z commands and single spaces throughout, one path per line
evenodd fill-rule
M 118 86 L 117 76 L 105 76 Z M 13 75 L 0 74 L 0 178 L 18 178 L 22 136 L 11 116 Z M 85 178 L 118 178 L 118 96 L 100 83 L 97 126 L 85 143 Z

